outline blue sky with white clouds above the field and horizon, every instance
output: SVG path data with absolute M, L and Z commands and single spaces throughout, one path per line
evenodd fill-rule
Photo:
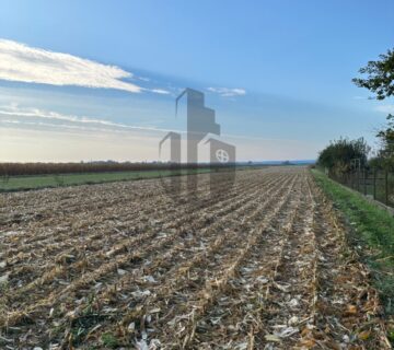
M 185 88 L 239 161 L 376 147 L 394 101 L 351 79 L 393 47 L 392 0 L 1 0 L 0 161 L 159 160 Z

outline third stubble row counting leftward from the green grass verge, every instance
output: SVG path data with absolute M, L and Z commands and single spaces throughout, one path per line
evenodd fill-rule
M 301 182 L 294 187 L 289 206 L 259 235 L 250 255 L 229 279 L 227 290 L 197 322 L 192 349 L 235 349 L 258 347 L 264 329 L 266 285 L 273 280 L 281 254 L 285 231 L 299 210 Z

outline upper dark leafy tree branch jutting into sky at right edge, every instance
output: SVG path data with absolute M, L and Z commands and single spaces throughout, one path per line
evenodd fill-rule
M 380 60 L 369 61 L 359 70 L 361 74 L 368 74 L 366 79 L 355 78 L 352 81 L 375 93 L 376 100 L 384 100 L 394 95 L 394 49 L 379 57 Z

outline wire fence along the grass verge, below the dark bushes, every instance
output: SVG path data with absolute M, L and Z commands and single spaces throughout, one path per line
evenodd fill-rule
M 334 180 L 350 187 L 366 196 L 394 208 L 394 173 L 378 168 L 357 168 L 336 175 Z

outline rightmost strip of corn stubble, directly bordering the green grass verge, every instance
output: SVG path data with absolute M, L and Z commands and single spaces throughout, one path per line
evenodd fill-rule
M 298 346 L 312 349 L 392 349 L 381 318 L 378 291 L 332 203 L 310 179 L 316 202 L 316 304 L 314 323 L 305 327 Z

